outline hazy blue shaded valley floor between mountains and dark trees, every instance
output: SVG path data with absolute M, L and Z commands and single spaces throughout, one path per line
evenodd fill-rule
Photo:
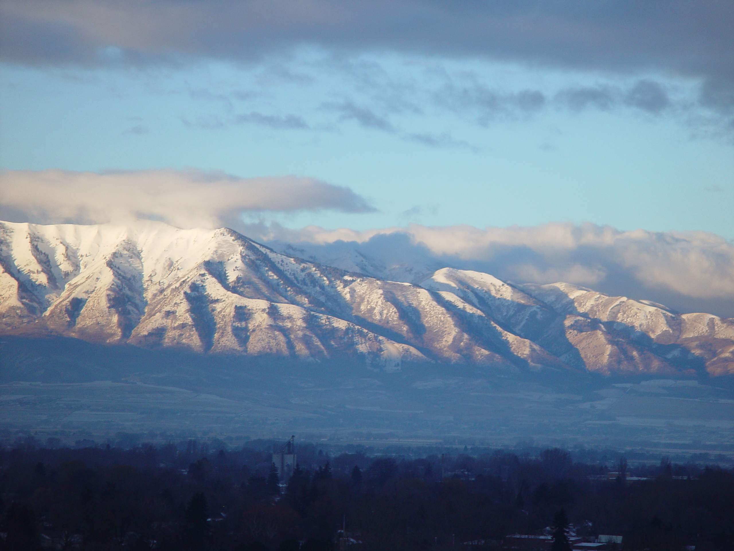
M 297 433 L 366 445 L 495 446 L 533 439 L 539 445 L 734 458 L 734 391 L 724 379 L 619 382 L 508 377 L 446 365 L 386 373 L 349 364 L 197 363 L 192 356 L 157 361 L 139 350 L 112 353 L 70 341 L 59 341 L 53 351 L 36 349 L 40 356 L 29 359 L 28 343 L 21 342 L 5 340 L 2 348 L 0 428 L 7 436 Z M 62 358 L 84 362 L 62 364 Z

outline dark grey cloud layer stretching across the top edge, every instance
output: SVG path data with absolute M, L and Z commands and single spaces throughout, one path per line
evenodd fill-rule
M 730 0 L 4 0 L 0 51 L 34 65 L 248 62 L 300 45 L 659 71 L 734 107 Z

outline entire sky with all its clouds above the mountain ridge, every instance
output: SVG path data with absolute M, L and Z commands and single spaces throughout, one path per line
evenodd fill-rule
M 612 289 L 623 270 L 631 294 L 734 315 L 730 1 L 0 10 L 1 219 L 400 234 L 524 281 Z M 500 265 L 500 245 L 537 258 Z

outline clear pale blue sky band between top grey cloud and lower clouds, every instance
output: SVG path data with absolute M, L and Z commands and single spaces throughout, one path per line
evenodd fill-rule
M 250 64 L 6 64 L 1 75 L 6 169 L 298 175 L 377 209 L 244 213 L 288 227 L 589 221 L 734 238 L 731 136 L 691 107 L 694 79 L 306 48 Z M 669 104 L 625 103 L 639 82 Z M 582 89 L 622 99 L 562 99 Z M 542 105 L 518 107 L 531 93 Z

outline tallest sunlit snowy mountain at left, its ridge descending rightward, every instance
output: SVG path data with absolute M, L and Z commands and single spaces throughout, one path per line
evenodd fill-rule
M 515 336 L 464 331 L 470 314 L 426 289 L 302 262 L 228 229 L 1 231 L 6 331 L 300 359 L 533 363 L 512 351 Z

